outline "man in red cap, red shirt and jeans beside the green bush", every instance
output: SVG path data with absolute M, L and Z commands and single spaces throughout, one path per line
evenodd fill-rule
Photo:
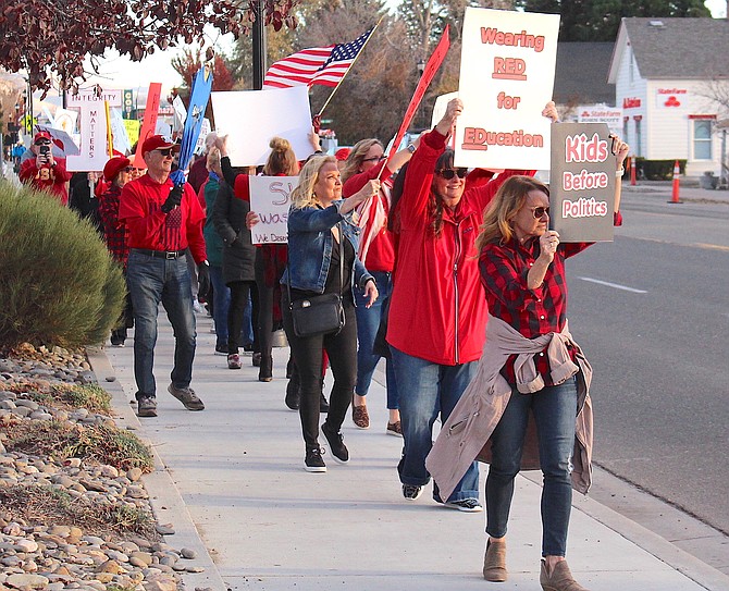
M 168 392 L 188 410 L 205 408 L 189 387 L 196 333 L 185 257 L 189 247 L 198 266 L 200 291 L 206 293 L 209 274 L 202 237 L 205 213 L 193 187 L 187 183 L 174 185 L 170 178 L 173 153 L 178 149 L 178 145 L 161 135 L 145 139 L 141 155 L 147 174 L 124 185 L 119 206 L 119 219 L 128 231 L 126 282 L 134 308 L 135 397 L 140 417 L 157 416 L 152 369 L 160 301 L 175 336 L 174 367 Z

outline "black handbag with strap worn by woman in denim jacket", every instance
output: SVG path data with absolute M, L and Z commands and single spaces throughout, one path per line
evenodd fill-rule
M 338 333 L 344 327 L 344 306 L 342 304 L 342 286 L 344 285 L 344 247 L 342 241 L 344 233 L 339 230 L 339 293 L 322 294 L 292 301 L 292 273 L 288 269 L 288 308 L 292 312 L 294 334 L 299 337 L 314 336 L 317 334 Z M 286 261 L 288 267 L 288 261 Z

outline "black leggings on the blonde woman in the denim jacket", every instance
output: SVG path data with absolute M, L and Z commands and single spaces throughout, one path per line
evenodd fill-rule
M 357 382 L 357 317 L 353 304 L 345 303 L 345 324 L 338 334 L 298 337 L 294 334 L 288 298 L 283 296 L 284 330 L 299 372 L 301 398 L 299 417 L 307 450 L 319 445 L 319 398 L 321 397 L 322 349 L 326 349 L 334 374 L 326 423 L 338 432 L 347 415 Z

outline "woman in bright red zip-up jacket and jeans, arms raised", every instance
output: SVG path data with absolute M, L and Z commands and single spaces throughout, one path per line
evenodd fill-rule
M 435 128 L 420 138 L 397 205 L 399 242 L 387 343 L 395 365 L 405 445 L 398 465 L 403 495 L 415 501 L 430 475 L 425 456 L 433 423 L 445 420 L 475 371 L 486 325 L 474 241 L 482 212 L 507 171 L 466 190 L 467 169 L 454 169 L 446 139 L 464 108 L 452 100 Z M 448 498 L 464 512 L 482 510 L 473 463 Z

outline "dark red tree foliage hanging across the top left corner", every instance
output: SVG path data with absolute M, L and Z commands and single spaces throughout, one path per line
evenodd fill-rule
M 34 89 L 47 93 L 51 76 L 75 89 L 91 72 L 84 58 L 109 48 L 141 60 L 156 49 L 184 40 L 205 45 L 202 28 L 212 25 L 237 38 L 247 34 L 260 3 L 264 24 L 296 27 L 299 0 L 5 0 L 0 9 L 0 65 L 25 70 Z

